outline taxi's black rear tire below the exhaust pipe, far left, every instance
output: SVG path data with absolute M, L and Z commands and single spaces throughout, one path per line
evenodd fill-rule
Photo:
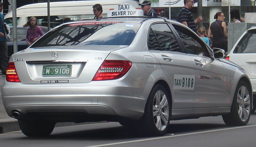
M 55 122 L 44 120 L 22 120 L 19 119 L 22 133 L 28 137 L 48 136 L 52 133 Z

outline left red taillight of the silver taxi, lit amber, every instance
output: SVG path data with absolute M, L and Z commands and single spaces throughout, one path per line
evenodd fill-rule
M 8 82 L 20 82 L 14 62 L 9 62 L 6 70 L 6 81 Z

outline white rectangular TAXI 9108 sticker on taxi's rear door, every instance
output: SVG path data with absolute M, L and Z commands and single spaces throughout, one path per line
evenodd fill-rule
M 176 90 L 194 90 L 195 75 L 174 74 L 173 89 Z

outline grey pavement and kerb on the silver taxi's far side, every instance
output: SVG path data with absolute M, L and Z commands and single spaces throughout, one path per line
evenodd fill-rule
M 5 132 L 12 132 L 12 131 L 19 131 L 20 127 L 18 124 L 18 120 L 14 119 L 7 115 L 3 101 L 2 101 L 2 87 L 4 85 L 5 77 L 2 77 L 0 75 L 0 91 L 1 91 L 1 97 L 0 97 L 0 134 Z M 85 123 L 73 123 L 73 122 L 61 122 L 57 123 L 55 127 L 63 127 L 63 126 L 72 126 L 72 125 L 81 125 L 81 124 L 91 124 L 95 122 L 85 122 Z M 97 122 L 101 123 L 101 122 Z

